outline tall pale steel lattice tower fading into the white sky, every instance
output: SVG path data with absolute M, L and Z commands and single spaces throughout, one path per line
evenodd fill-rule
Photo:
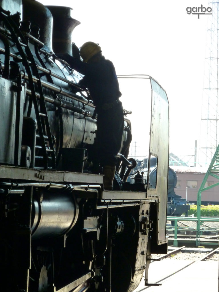
M 209 166 L 219 144 L 218 104 L 218 7 L 219 1 L 209 1 L 212 14 L 208 15 L 204 85 L 201 106 L 199 158 L 201 166 Z

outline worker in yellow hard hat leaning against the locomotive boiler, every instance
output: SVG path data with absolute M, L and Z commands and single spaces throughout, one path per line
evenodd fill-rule
M 100 167 L 103 168 L 104 189 L 112 190 L 117 164 L 116 155 L 121 147 L 124 128 L 119 83 L 113 63 L 105 59 L 98 44 L 86 42 L 81 46 L 80 56 L 83 62 L 68 54 L 60 58 L 84 75 L 78 84 L 88 88 L 97 114 L 96 163 L 98 166 L 100 163 Z

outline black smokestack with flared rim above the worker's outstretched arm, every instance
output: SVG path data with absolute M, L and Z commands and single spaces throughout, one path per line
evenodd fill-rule
M 54 53 L 72 55 L 72 32 L 81 22 L 71 17 L 70 7 L 47 6 L 53 15 Z

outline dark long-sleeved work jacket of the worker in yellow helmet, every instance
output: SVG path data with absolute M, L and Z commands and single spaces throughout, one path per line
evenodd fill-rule
M 70 55 L 65 55 L 63 58 L 73 69 L 84 75 L 78 84 L 88 88 L 97 108 L 104 103 L 113 102 L 121 96 L 114 65 L 104 56 L 99 62 L 91 63 L 84 63 Z

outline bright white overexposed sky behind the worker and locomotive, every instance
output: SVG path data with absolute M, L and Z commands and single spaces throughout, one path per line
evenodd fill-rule
M 39 2 L 60 5 L 56 0 Z M 201 4 L 209 6 L 205 0 L 62 0 L 62 6 L 72 7 L 72 17 L 81 22 L 72 41 L 78 46 L 97 42 L 103 55 L 114 63 L 117 75 L 149 74 L 166 90 L 170 152 L 175 155 L 193 155 L 195 140 L 199 140 L 208 15 L 198 19 L 188 15 L 186 8 Z M 124 108 L 136 109 L 132 119 L 142 130 L 150 100 L 145 81 L 119 82 Z M 138 142 L 136 133 L 133 141 Z

